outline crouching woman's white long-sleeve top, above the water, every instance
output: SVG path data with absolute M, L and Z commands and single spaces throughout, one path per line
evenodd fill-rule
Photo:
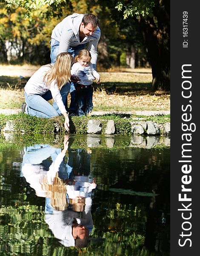
M 52 64 L 51 64 L 52 65 Z M 62 96 L 60 94 L 60 90 L 57 87 L 57 81 L 52 81 L 49 87 L 46 85 L 46 81 L 43 81 L 44 75 L 50 69 L 50 65 L 45 65 L 39 68 L 26 83 L 24 90 L 28 95 L 39 94 L 43 95 L 48 90 L 51 91 L 51 95 L 54 99 L 54 102 L 57 103 L 60 112 L 63 114 L 66 111 L 65 105 L 62 101 Z

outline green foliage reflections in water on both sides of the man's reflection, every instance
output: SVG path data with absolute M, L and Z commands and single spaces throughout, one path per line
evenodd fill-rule
M 28 203 L 28 202 L 26 202 Z M 24 204 L 26 204 L 24 202 Z M 92 232 L 91 245 L 82 249 L 84 255 L 123 255 L 123 256 L 146 256 L 148 250 L 142 247 L 144 242 L 144 231 L 140 233 L 134 220 L 145 221 L 138 208 L 131 211 L 131 205 L 117 204 L 115 208 L 108 210 L 108 216 L 104 215 L 106 228 L 102 230 L 100 215 L 93 215 L 95 218 L 94 231 Z M 65 248 L 57 243 L 51 234 L 48 225 L 43 221 L 42 207 L 34 205 L 23 205 L 16 207 L 2 207 L 0 209 L 0 254 L 9 255 L 73 255 L 77 253 L 76 248 Z M 116 219 L 116 221 L 114 221 Z M 116 223 L 115 223 L 116 222 Z M 123 225 L 120 227 L 120 225 Z M 142 223 L 140 224 L 142 228 Z M 103 240 L 98 240 L 102 237 Z M 94 244 L 96 244 L 94 246 Z M 92 254 L 93 253 L 93 254 Z M 76 254 L 75 254 L 76 255 Z M 159 255 L 155 252 L 151 256 Z M 169 254 L 163 251 L 162 256 Z

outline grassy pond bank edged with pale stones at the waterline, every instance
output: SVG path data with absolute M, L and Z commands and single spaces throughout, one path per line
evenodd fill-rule
M 8 111 L 8 110 L 7 110 Z M 9 110 L 9 114 L 11 114 Z M 14 112 L 16 113 L 16 112 Z M 19 112 L 18 112 L 19 113 Z M 95 113 L 95 112 L 94 112 Z M 5 114 L 5 113 L 4 113 Z M 113 113 L 112 113 L 113 114 Z M 17 115 L 18 116 L 18 115 Z M 6 133 L 62 133 L 63 122 L 62 117 L 58 119 L 33 119 L 33 117 L 26 115 L 19 115 L 16 118 L 3 119 L 1 122 L 1 132 Z M 31 120 L 31 122 L 29 122 Z M 39 121 L 43 123 L 39 123 Z M 27 123 L 26 123 L 27 122 Z M 51 122 L 51 123 L 50 123 Z M 101 114 L 99 116 L 75 117 L 73 116 L 70 121 L 70 133 L 74 134 L 132 134 L 132 135 L 169 135 L 170 122 L 163 122 L 162 124 L 148 120 L 148 118 L 132 117 L 119 117 L 112 118 Z M 31 126 L 30 126 L 31 124 Z M 44 125 L 44 131 L 43 131 Z M 38 130 L 38 127 L 40 130 Z M 47 129 L 50 128 L 51 130 Z

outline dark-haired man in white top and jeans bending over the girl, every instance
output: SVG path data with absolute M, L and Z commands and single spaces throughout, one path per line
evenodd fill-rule
M 91 54 L 91 63 L 96 69 L 97 44 L 100 39 L 99 20 L 93 14 L 74 13 L 58 23 L 51 34 L 51 63 L 55 62 L 60 52 L 69 52 L 75 57 L 88 44 Z M 69 112 L 75 112 L 75 87 L 70 87 L 71 103 Z

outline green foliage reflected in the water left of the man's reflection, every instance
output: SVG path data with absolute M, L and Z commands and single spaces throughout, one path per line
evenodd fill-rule
M 0 255 L 68 255 L 45 224 L 42 207 L 23 203 L 0 209 Z

